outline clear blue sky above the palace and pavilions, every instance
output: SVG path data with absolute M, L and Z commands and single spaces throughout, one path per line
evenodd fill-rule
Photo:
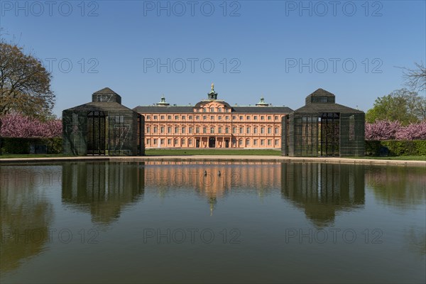
M 0 24 L 52 72 L 58 116 L 103 87 L 133 108 L 212 82 L 229 104 L 297 109 L 323 88 L 367 111 L 426 62 L 425 2 L 1 1 Z

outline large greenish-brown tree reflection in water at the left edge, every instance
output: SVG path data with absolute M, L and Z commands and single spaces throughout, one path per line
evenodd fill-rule
M 36 171 L 37 169 L 37 171 Z M 20 261 L 43 251 L 53 219 L 52 204 L 38 192 L 34 177 L 52 176 L 35 167 L 1 167 L 0 271 L 18 268 Z

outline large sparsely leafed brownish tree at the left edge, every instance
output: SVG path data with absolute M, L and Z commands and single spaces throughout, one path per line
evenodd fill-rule
M 52 117 L 55 94 L 51 75 L 33 55 L 17 45 L 0 42 L 0 116 L 20 112 L 38 119 Z

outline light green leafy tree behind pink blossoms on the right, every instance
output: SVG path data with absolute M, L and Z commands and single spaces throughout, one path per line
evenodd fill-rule
M 366 113 L 366 121 L 400 121 L 407 125 L 426 119 L 426 98 L 408 89 L 397 89 L 391 94 L 378 97 L 373 108 Z

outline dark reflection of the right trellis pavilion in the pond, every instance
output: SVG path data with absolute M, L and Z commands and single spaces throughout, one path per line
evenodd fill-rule
M 281 193 L 317 226 L 334 222 L 336 212 L 364 204 L 364 166 L 282 163 Z

